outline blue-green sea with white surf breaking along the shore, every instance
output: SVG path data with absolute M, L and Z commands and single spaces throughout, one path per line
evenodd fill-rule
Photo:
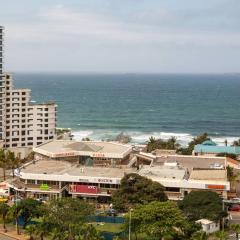
M 240 137 L 240 74 L 15 73 L 14 85 L 32 89 L 36 102 L 55 101 L 58 127 L 72 128 L 76 139 Z

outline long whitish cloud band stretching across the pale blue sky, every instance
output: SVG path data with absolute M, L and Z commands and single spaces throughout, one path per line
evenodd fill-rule
M 150 13 L 147 13 L 149 15 Z M 146 15 L 146 14 L 145 14 Z M 144 15 L 144 18 L 146 17 Z M 150 14 L 151 15 L 151 14 Z M 161 19 L 173 19 L 166 11 Z M 155 17 L 153 16 L 152 20 Z M 56 5 L 37 15 L 38 21 L 10 23 L 9 39 L 24 42 L 54 41 L 107 41 L 127 44 L 193 44 L 199 46 L 240 46 L 240 33 L 222 33 L 186 29 L 171 29 L 142 23 L 127 23 L 97 13 L 75 11 L 64 5 Z

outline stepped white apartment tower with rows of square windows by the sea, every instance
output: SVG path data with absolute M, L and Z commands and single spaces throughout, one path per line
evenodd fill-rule
M 0 28 L 2 32 L 2 28 Z M 1 39 L 2 34 L 0 34 Z M 2 45 L 0 40 L 0 54 Z M 2 66 L 0 57 L 0 67 Z M 10 74 L 1 73 L 1 139 L 6 148 L 34 147 L 56 136 L 56 104 L 33 104 L 30 89 L 15 89 Z

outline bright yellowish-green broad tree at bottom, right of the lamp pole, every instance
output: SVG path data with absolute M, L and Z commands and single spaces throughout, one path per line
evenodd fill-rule
M 145 234 L 148 239 L 164 239 L 184 237 L 184 231 L 189 224 L 174 202 L 151 202 L 145 205 L 137 205 L 131 212 L 131 223 L 134 231 Z M 127 215 L 126 230 L 129 225 Z M 186 239 L 186 237 L 185 237 Z

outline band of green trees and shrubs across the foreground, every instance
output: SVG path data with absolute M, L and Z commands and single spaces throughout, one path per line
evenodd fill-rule
M 17 232 L 21 230 L 28 234 L 30 240 L 101 240 L 106 231 L 116 234 L 115 239 L 126 240 L 130 225 L 133 240 L 197 240 L 209 236 L 201 231 L 195 220 L 219 221 L 225 216 L 222 200 L 213 192 L 192 192 L 177 204 L 166 199 L 161 186 L 153 187 L 153 184 L 135 175 L 125 178 L 124 189 L 117 195 L 117 204 L 120 201 L 126 204 L 124 210 L 121 208 L 124 223 L 98 224 L 94 221 L 95 204 L 73 198 L 53 199 L 46 203 L 25 199 L 12 207 L 1 203 L 0 218 L 5 231 L 6 219 L 8 222 L 9 218 L 13 219 L 18 223 Z M 147 193 L 152 196 L 148 197 Z M 142 197 L 145 201 L 140 201 Z M 115 204 L 113 201 L 113 207 L 117 208 Z M 232 226 L 231 230 L 239 234 L 239 226 Z M 222 239 L 223 235 L 226 233 L 220 232 L 209 239 Z

